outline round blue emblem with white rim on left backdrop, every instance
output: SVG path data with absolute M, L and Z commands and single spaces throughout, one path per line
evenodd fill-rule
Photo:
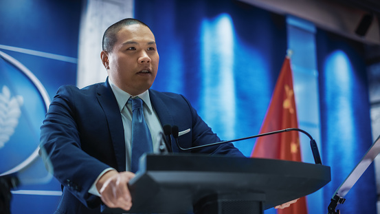
M 38 157 L 40 127 L 49 95 L 40 81 L 0 52 L 0 176 L 25 169 Z

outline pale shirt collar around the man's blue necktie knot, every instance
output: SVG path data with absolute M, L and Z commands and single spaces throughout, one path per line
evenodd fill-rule
M 128 94 L 127 92 L 124 92 L 122 89 L 120 89 L 118 86 L 112 83 L 111 79 L 108 78 L 109 85 L 111 85 L 111 89 L 113 91 L 113 94 L 115 94 L 115 98 L 118 101 L 120 112 L 124 108 L 126 102 L 129 98 L 134 98 L 136 96 L 131 96 L 131 94 Z M 137 95 L 139 98 L 141 98 L 145 105 L 148 107 L 148 111 L 153 112 L 152 104 L 150 103 L 150 96 L 149 96 L 149 90 L 146 90 L 142 94 Z

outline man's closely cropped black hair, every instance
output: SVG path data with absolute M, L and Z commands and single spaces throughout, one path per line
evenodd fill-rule
M 109 28 L 107 28 L 107 30 L 103 34 L 102 50 L 111 52 L 113 49 L 113 45 L 115 45 L 116 43 L 116 34 L 118 34 L 118 32 L 122 30 L 124 26 L 136 25 L 136 24 L 144 25 L 147 28 L 149 28 L 148 25 L 146 25 L 146 23 L 139 21 L 137 19 L 133 19 L 133 18 L 122 19 L 118 21 L 117 23 L 114 23 L 113 25 L 109 26 Z

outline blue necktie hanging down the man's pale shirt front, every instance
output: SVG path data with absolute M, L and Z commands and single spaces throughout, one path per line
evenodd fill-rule
M 132 154 L 131 172 L 139 169 L 139 158 L 144 153 L 153 151 L 152 137 L 144 119 L 141 98 L 129 98 L 132 103 Z

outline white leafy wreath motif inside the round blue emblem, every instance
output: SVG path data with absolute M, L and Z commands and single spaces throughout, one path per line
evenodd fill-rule
M 22 96 L 10 97 L 10 89 L 3 86 L 0 93 L 0 149 L 8 142 L 14 133 L 21 116 Z

